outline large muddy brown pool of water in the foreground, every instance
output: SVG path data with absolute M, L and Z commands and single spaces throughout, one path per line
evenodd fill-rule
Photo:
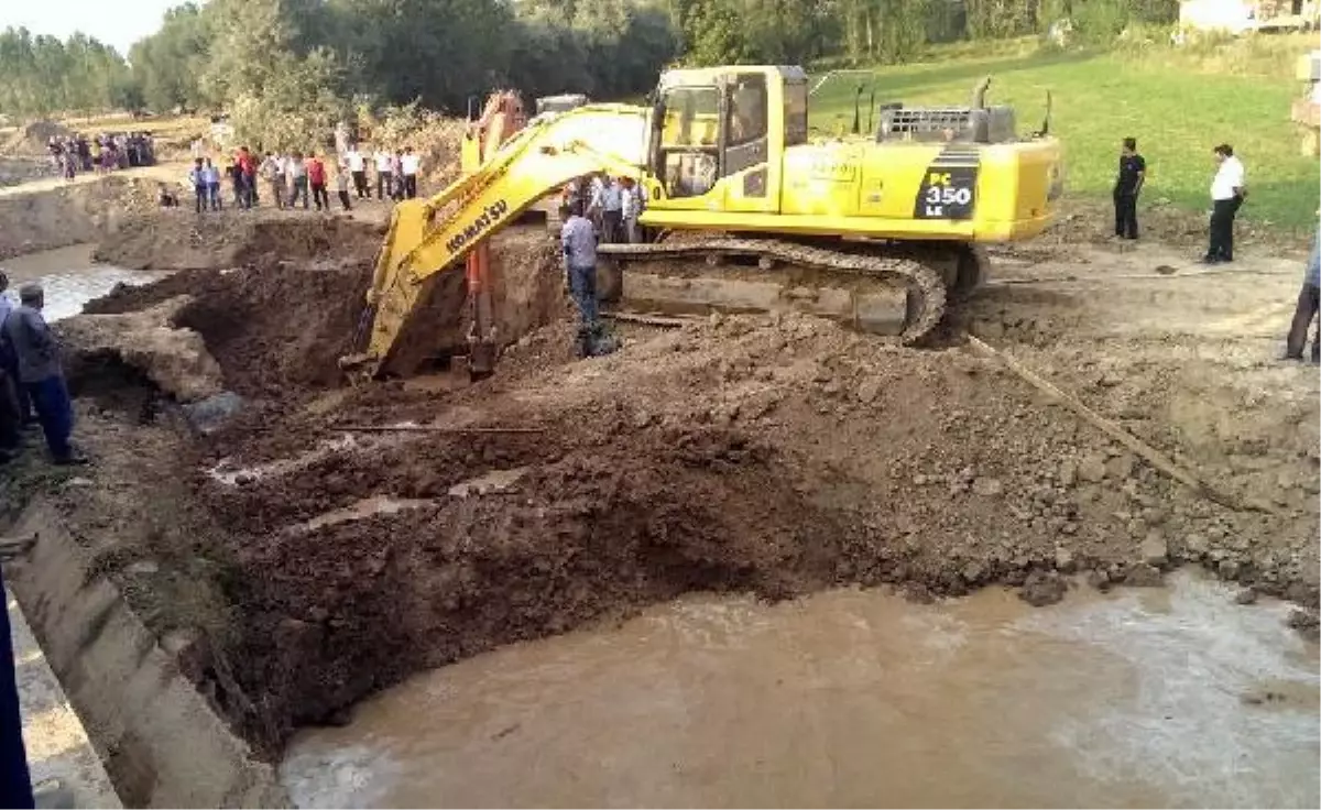
M 1321 650 L 1232 596 L 694 596 L 417 675 L 281 778 L 304 810 L 1316 807 Z

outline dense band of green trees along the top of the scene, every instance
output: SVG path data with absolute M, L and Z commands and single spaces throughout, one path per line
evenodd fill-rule
M 1070 17 L 1092 38 L 1168 22 L 1176 0 L 210 0 L 166 13 L 125 59 L 82 34 L 0 34 L 0 112 L 223 110 L 276 143 L 350 108 L 461 111 L 530 95 L 646 91 L 670 62 L 905 61 L 925 44 Z

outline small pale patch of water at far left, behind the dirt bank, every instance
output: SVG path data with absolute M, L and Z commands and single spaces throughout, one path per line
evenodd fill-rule
M 20 285 L 38 281 L 46 291 L 46 320 L 58 321 L 78 314 L 83 304 L 106 295 L 115 284 L 148 284 L 169 275 L 94 263 L 94 247 L 75 244 L 0 262 L 0 268 L 9 276 L 9 292 L 5 295 L 17 300 Z

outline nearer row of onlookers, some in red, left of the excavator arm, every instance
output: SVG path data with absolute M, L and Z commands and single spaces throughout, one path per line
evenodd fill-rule
M 367 173 L 369 164 L 375 170 L 374 178 Z M 417 196 L 421 159 L 411 147 L 380 149 L 370 157 L 357 147 L 350 147 L 333 166 L 336 196 L 343 210 L 353 210 L 354 197 L 373 198 L 371 180 L 375 180 L 375 196 L 379 200 L 400 201 Z M 325 157 L 316 152 L 267 152 L 259 156 L 247 147 L 240 147 L 225 159 L 222 169 L 211 157 L 198 155 L 194 149 L 188 185 L 193 190 L 193 207 L 199 214 L 225 209 L 226 185 L 230 203 L 239 209 L 258 206 L 264 197 L 281 210 L 301 205 L 304 210 L 316 207 L 318 211 L 329 211 L 330 176 Z M 160 205 L 172 207 L 180 205 L 180 201 L 168 188 L 161 186 Z

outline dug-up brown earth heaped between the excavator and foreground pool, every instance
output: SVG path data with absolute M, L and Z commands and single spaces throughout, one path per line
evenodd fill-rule
M 626 332 L 621 353 L 580 362 L 557 258 L 532 229 L 493 251 L 511 341 L 497 377 L 355 388 L 336 361 L 370 272 L 343 240 L 363 234 L 272 234 L 246 267 L 87 308 L 192 296 L 174 322 L 246 406 L 194 437 L 169 408 L 143 424 L 136 400 L 107 400 L 103 374 L 79 404 L 98 469 L 57 503 L 114 534 L 92 548 L 102 568 L 155 633 L 182 634 L 181 671 L 267 757 L 415 671 L 691 591 L 1008 583 L 1037 599 L 1079 571 L 1152 584 L 1207 558 L 1207 536 L 1252 536 L 1272 544 L 1232 579 L 1317 601 L 1284 562 L 1310 522 L 1201 501 L 962 349 L 737 316 Z M 433 312 L 457 317 L 440 289 Z M 461 333 L 411 340 L 425 355 Z M 437 429 L 390 429 L 406 424 Z M 144 559 L 153 572 L 135 573 Z

